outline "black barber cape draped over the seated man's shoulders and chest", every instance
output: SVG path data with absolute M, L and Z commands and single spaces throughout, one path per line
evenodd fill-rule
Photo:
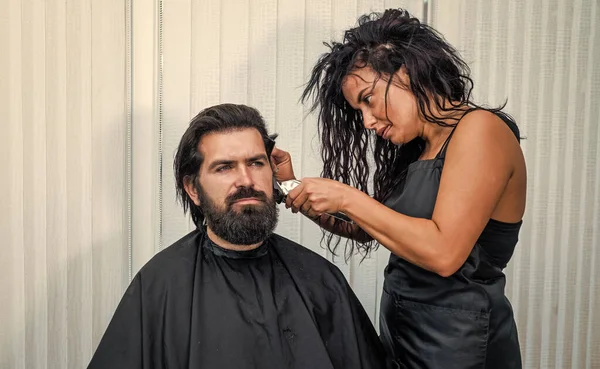
M 273 235 L 232 251 L 195 230 L 135 276 L 91 369 L 384 368 L 343 274 Z

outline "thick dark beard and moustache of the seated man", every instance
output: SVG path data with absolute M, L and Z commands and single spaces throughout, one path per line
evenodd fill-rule
M 200 187 L 200 186 L 198 186 Z M 225 200 L 221 209 L 201 188 L 197 188 L 200 209 L 207 225 L 223 240 L 234 245 L 254 245 L 265 241 L 277 226 L 279 209 L 275 200 L 264 192 L 243 187 Z M 243 205 L 240 211 L 233 210 L 235 200 L 254 197 L 262 203 Z

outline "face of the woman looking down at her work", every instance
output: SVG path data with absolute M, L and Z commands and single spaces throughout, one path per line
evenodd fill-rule
M 342 82 L 346 101 L 360 110 L 366 129 L 374 130 L 395 145 L 412 141 L 422 133 L 424 123 L 419 119 L 415 96 L 408 87 L 403 87 L 409 86 L 406 69 L 402 67 L 393 75 L 387 92 L 387 111 L 388 80 L 384 76 L 377 78 L 369 66 L 354 69 Z

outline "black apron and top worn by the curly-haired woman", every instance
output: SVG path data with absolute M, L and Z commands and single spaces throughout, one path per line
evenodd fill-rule
M 516 125 L 499 114 L 515 132 Z M 431 219 L 445 148 L 412 163 L 406 180 L 384 203 Z M 406 368 L 521 368 L 512 307 L 502 269 L 517 243 L 519 223 L 490 220 L 464 265 L 444 278 L 392 254 L 381 299 L 381 339 Z

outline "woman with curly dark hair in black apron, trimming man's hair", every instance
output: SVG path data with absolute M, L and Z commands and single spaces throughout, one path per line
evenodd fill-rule
M 435 30 L 387 10 L 333 43 L 303 94 L 318 112 L 325 178 L 302 179 L 286 205 L 352 248 L 391 251 L 381 339 L 409 368 L 521 367 L 502 270 L 525 209 L 525 162 L 514 121 L 476 105 L 471 88 Z M 293 178 L 287 152 L 273 160 L 280 181 Z

